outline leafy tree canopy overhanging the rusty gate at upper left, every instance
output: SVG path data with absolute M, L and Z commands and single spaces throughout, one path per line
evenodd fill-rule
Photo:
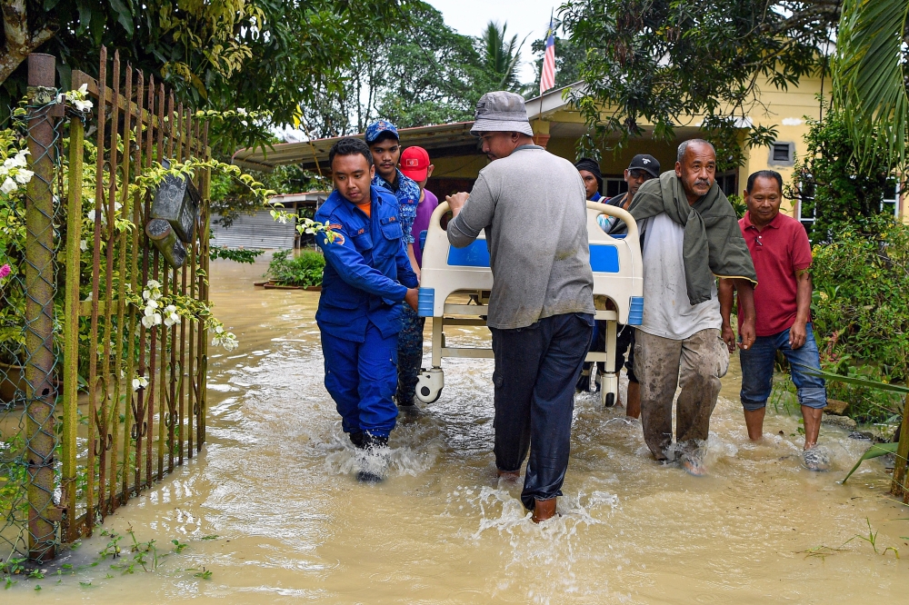
M 73 69 L 96 76 L 105 45 L 197 108 L 267 110 L 274 124 L 291 124 L 299 104 L 312 102 L 319 90 L 343 85 L 351 58 L 367 41 L 399 28 L 402 9 L 410 4 L 0 0 L 5 25 L 0 108 L 25 94 L 22 61 L 28 53 L 55 55 L 61 84 L 68 87 Z M 233 151 L 236 136 L 222 140 L 225 152 Z

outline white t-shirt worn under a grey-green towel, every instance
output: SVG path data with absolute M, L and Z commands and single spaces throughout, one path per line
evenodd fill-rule
M 720 329 L 723 320 L 715 281 L 709 301 L 694 306 L 688 302 L 682 262 L 684 227 L 662 213 L 647 219 L 646 228 L 644 322 L 639 329 L 675 341 L 684 341 L 707 328 Z

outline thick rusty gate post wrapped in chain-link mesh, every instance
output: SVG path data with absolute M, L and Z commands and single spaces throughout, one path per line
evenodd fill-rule
M 25 196 L 25 435 L 28 556 L 53 559 L 54 503 L 54 123 L 55 58 L 28 56 L 28 151 L 35 173 Z

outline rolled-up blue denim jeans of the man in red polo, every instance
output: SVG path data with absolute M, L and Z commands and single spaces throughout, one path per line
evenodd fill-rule
M 773 336 L 758 336 L 751 349 L 739 350 L 742 362 L 742 405 L 754 412 L 767 405 L 773 390 L 774 363 L 776 352 L 782 351 L 792 369 L 793 382 L 798 393 L 798 402 L 805 407 L 821 409 L 827 405 L 827 391 L 824 379 L 806 373 L 803 366 L 821 369 L 821 359 L 814 341 L 811 323 L 805 325 L 807 336 L 804 344 L 793 349 L 789 346 L 789 330 Z

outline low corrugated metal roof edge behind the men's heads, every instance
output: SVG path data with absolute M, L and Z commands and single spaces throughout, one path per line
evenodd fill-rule
M 454 124 L 441 124 L 437 126 L 418 126 L 415 128 L 401 128 L 398 134 L 401 144 L 405 147 L 419 145 L 433 154 L 433 157 L 452 155 L 482 155 L 478 139 L 470 134 L 473 122 L 457 122 Z M 363 134 L 351 136 L 362 137 Z M 315 170 L 315 162 L 327 172 L 328 150 L 338 140 L 344 137 L 335 136 L 330 139 L 317 139 L 303 143 L 275 144 L 274 149 L 241 149 L 234 154 L 234 164 L 247 170 L 263 170 L 271 172 L 275 166 L 296 164 L 307 170 Z

